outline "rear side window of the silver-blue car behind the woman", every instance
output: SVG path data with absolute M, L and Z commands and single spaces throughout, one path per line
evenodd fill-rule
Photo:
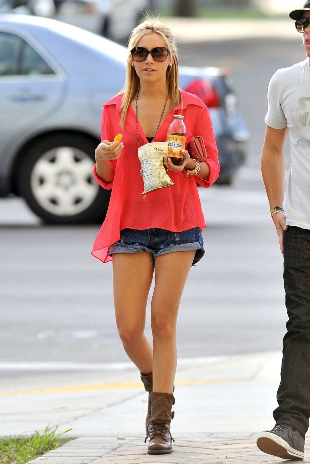
M 25 40 L 0 32 L 0 76 L 29 74 L 54 74 L 54 71 Z

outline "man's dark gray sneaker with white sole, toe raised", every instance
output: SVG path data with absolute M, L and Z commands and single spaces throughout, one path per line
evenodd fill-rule
M 303 459 L 304 438 L 292 425 L 275 425 L 257 436 L 256 444 L 264 453 L 282 459 Z

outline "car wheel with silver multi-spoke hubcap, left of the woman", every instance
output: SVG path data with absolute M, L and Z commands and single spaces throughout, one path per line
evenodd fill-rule
M 20 195 L 50 224 L 86 224 L 103 220 L 111 192 L 92 175 L 97 143 L 81 135 L 49 135 L 23 156 L 17 186 Z

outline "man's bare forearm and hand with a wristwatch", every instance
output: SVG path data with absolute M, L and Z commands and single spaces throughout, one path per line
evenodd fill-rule
M 270 208 L 283 206 L 284 200 L 284 142 L 288 128 L 272 129 L 266 127 L 263 151 L 262 151 L 262 175 Z M 283 235 L 287 229 L 284 213 L 278 212 L 272 216 L 277 228 L 280 249 L 283 253 Z

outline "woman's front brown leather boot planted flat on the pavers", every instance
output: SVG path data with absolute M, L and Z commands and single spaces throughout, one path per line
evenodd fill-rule
M 146 428 L 146 434 L 150 437 L 147 454 L 172 453 L 174 439 L 170 433 L 170 422 L 174 417 L 174 412 L 171 412 L 174 396 L 172 393 L 152 392 L 151 404 L 151 421 Z

